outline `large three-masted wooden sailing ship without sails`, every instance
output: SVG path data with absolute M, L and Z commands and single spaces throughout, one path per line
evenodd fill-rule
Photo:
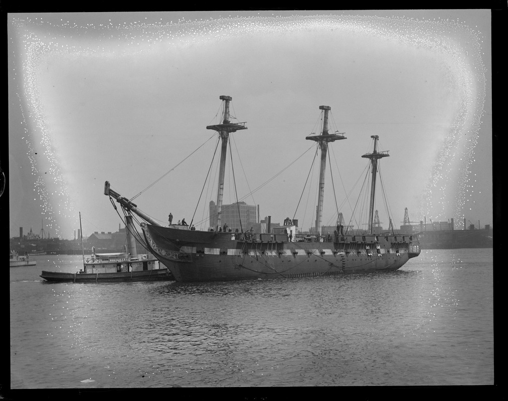
M 135 213 L 141 224 L 147 246 L 154 256 L 164 263 L 176 281 L 232 281 L 248 279 L 300 278 L 335 276 L 348 273 L 391 272 L 399 269 L 410 258 L 420 254 L 416 235 L 373 233 L 374 193 L 378 159 L 389 156 L 377 151 L 377 136 L 373 139 L 373 151 L 363 155 L 372 165 L 370 191 L 369 234 L 347 235 L 343 226 L 337 226 L 333 237 L 324 239 L 322 228 L 325 169 L 328 144 L 346 139 L 340 133 L 329 133 L 329 106 L 320 106 L 324 115 L 320 135 L 306 137 L 319 144 L 321 149 L 320 189 L 316 211 L 315 233 L 306 240 L 295 241 L 296 236 L 286 233 L 229 232 L 221 227 L 225 165 L 229 134 L 247 129 L 245 123 L 230 121 L 230 96 L 220 96 L 223 101 L 222 123 L 206 128 L 218 132 L 221 139 L 219 180 L 217 187 L 216 225 L 213 230 L 190 230 L 185 225 L 163 226 L 137 208 L 129 199 L 121 196 L 105 183 L 104 194 L 116 199 L 127 213 Z M 289 222 L 285 229 L 295 232 L 295 225 Z M 226 228 L 226 227 L 225 227 Z

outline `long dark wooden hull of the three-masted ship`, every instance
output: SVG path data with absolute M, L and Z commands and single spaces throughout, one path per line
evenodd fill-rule
M 145 225 L 151 252 L 176 281 L 236 281 L 364 274 L 400 269 L 420 248 L 416 236 L 340 236 L 331 242 L 241 241 L 232 233 Z M 397 238 L 398 237 L 398 238 Z M 407 238 L 406 238 L 407 237 Z M 207 238 L 208 241 L 203 241 Z M 178 245 L 179 246 L 178 246 Z

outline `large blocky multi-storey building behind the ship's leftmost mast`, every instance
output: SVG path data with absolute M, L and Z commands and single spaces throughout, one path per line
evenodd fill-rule
M 254 224 L 258 224 L 259 206 L 247 205 L 245 202 L 237 202 L 231 205 L 223 205 L 220 216 L 220 225 L 227 224 L 233 231 L 238 228 L 246 230 Z M 241 224 L 240 224 L 241 222 Z M 210 227 L 217 226 L 217 205 L 210 201 Z

